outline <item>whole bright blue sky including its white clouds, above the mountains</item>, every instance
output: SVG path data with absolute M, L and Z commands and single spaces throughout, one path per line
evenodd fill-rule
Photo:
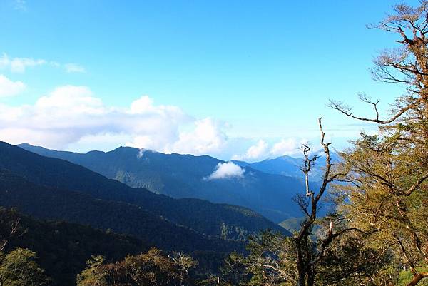
M 367 114 L 357 93 L 402 92 L 368 71 L 396 38 L 365 25 L 394 2 L 298 2 L 1 1 L 0 140 L 260 160 L 315 142 L 322 116 L 343 148 L 375 126 L 329 98 Z

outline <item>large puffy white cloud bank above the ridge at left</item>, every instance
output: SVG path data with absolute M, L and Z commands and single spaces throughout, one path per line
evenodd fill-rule
M 118 108 L 106 106 L 85 86 L 61 86 L 33 105 L 0 103 L 0 140 L 73 150 L 130 145 L 201 155 L 223 148 L 227 137 L 212 118 L 196 120 L 148 96 Z

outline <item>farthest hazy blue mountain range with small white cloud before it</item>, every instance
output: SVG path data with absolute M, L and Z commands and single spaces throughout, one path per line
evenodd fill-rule
M 146 188 L 173 198 L 240 205 L 275 223 L 302 215 L 292 200 L 305 190 L 298 167 L 300 159 L 284 157 L 252 164 L 234 161 L 240 173 L 211 178 L 226 162 L 208 155 L 164 154 L 130 147 L 110 152 L 73 153 L 29 144 L 19 146 L 39 155 L 82 165 L 133 188 Z

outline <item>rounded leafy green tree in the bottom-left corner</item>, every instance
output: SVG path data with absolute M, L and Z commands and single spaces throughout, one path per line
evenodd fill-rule
M 36 260 L 36 253 L 17 248 L 1 259 L 1 286 L 45 286 L 50 284 L 49 277 Z

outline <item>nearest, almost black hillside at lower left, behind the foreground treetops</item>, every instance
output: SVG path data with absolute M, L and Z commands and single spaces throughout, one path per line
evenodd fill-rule
M 19 220 L 19 235 L 9 239 L 5 251 L 23 247 L 36 252 L 39 264 L 52 277 L 53 285 L 75 285 L 76 274 L 91 255 L 120 260 L 149 248 L 145 242 L 125 235 L 72 223 L 38 221 L 0 208 L 0 230 L 16 220 Z

